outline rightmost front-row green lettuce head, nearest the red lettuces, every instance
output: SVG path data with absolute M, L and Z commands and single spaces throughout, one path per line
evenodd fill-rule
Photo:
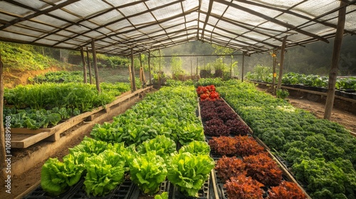
M 208 155 L 175 154 L 167 163 L 167 178 L 182 193 L 197 197 L 214 166 L 214 160 Z

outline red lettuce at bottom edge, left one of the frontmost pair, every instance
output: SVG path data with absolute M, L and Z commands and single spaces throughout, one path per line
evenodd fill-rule
M 226 181 L 224 187 L 229 199 L 263 198 L 263 190 L 261 189 L 263 184 L 253 180 L 251 177 L 246 177 L 244 174 L 231 177 Z

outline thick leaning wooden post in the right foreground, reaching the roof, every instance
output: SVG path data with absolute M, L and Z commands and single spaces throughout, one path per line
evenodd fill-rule
M 344 28 L 345 28 L 345 16 L 346 16 L 345 4 L 346 3 L 344 1 L 340 1 L 340 7 L 342 8 L 339 10 L 339 17 L 337 20 L 337 29 L 336 29 L 336 35 L 334 40 L 331 69 L 329 73 L 328 96 L 326 97 L 324 119 L 330 119 L 331 112 L 333 111 L 337 69 L 338 69 L 338 63 L 340 58 L 342 36 L 344 35 Z

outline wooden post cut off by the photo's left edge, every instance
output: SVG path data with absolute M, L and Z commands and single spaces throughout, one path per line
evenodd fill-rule
M 0 168 L 6 168 L 6 143 L 5 143 L 5 131 L 4 131 L 4 65 L 1 60 L 0 51 Z M 5 116 L 6 117 L 6 116 Z M 4 170 L 5 171 L 5 170 Z M 1 176 L 5 176 L 5 173 L 0 172 Z M 7 176 L 7 175 L 6 175 Z M 1 178 L 2 179 L 2 178 Z

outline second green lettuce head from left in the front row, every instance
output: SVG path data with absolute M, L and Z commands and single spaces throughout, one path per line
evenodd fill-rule
M 85 168 L 85 192 L 89 195 L 106 195 L 124 181 L 125 158 L 113 151 L 104 151 L 87 158 Z

